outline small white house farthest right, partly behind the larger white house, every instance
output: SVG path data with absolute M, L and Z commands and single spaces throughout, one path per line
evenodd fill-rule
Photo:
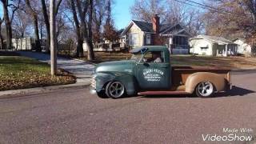
M 245 39 L 236 38 L 233 42 L 238 45 L 238 54 L 244 55 L 245 57 L 250 57 L 251 46 L 246 43 Z

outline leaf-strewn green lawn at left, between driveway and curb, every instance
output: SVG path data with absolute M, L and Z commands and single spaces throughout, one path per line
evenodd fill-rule
M 58 75 L 52 77 L 50 66 L 47 63 L 13 55 L 0 52 L 0 90 L 53 86 L 75 82 L 74 76 L 64 70 L 58 70 Z

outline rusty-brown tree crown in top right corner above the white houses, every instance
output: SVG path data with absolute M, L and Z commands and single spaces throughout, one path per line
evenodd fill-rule
M 204 19 L 206 34 L 226 38 L 252 37 L 256 31 L 256 2 L 254 0 L 218 0 L 208 5 L 217 10 L 208 10 Z

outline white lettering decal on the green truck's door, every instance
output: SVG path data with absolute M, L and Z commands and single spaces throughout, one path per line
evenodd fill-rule
M 163 77 L 164 72 L 158 69 L 143 70 L 143 77 L 148 82 L 159 82 Z

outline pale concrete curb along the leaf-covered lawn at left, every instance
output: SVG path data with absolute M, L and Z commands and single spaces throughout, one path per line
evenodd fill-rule
M 78 88 L 78 87 L 84 87 L 89 85 L 90 85 L 90 82 L 78 82 L 74 84 L 58 85 L 58 86 L 44 86 L 44 87 L 34 87 L 29 89 L 5 90 L 5 91 L 0 91 L 0 98 L 6 98 L 6 96 L 10 96 L 10 95 L 35 94 L 35 93 L 47 92 L 50 90 L 66 89 L 66 88 L 72 88 L 72 87 Z

